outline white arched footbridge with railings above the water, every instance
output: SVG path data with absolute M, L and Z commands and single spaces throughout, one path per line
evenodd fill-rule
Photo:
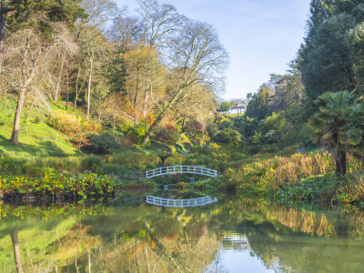
M 158 167 L 147 171 L 147 178 L 159 177 L 172 174 L 196 174 L 207 177 L 217 177 L 217 170 L 207 167 L 195 166 L 169 166 Z

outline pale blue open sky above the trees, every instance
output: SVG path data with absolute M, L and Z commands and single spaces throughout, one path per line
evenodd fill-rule
M 178 13 L 214 25 L 227 49 L 225 99 L 244 98 L 269 80 L 285 74 L 303 42 L 309 0 L 159 0 Z M 116 0 L 130 14 L 136 0 Z

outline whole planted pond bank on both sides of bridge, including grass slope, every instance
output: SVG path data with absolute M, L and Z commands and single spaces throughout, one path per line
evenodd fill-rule
M 161 184 L 190 188 L 187 175 L 141 179 L 147 169 L 162 165 L 159 143 L 152 142 L 147 149 L 130 145 L 107 155 L 87 154 L 50 126 L 44 111 L 37 109 L 29 113 L 25 109 L 20 146 L 13 147 L 8 139 L 14 104 L 9 100 L 5 111 L 0 112 L 0 191 L 6 200 L 35 197 L 79 201 L 113 197 L 117 191 Z M 51 107 L 64 108 L 56 104 Z M 222 174 L 217 179 L 197 177 L 195 189 L 238 192 L 279 202 L 321 201 L 364 207 L 361 161 L 349 157 L 348 174 L 337 177 L 329 153 L 296 153 L 294 146 L 284 149 L 266 146 L 256 155 L 249 155 L 250 147 L 242 145 L 192 146 L 188 147 L 188 154 L 171 153 L 164 164 L 209 167 Z M 269 152 L 262 153 L 265 150 Z

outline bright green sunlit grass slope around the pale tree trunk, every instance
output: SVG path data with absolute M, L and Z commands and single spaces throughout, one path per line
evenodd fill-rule
M 19 147 L 9 143 L 12 135 L 15 100 L 8 99 L 5 110 L 0 110 L 0 155 L 9 157 L 29 157 L 29 156 L 55 156 L 66 157 L 75 156 L 80 152 L 73 147 L 67 137 L 58 134 L 57 131 L 46 124 L 46 116 L 41 109 L 34 108 L 29 112 L 25 107 L 22 111 Z M 52 108 L 57 108 L 51 104 Z M 26 116 L 28 126 L 26 132 Z

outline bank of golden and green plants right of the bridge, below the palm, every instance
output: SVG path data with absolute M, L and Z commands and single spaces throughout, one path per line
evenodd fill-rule
M 225 172 L 225 183 L 241 194 L 281 203 L 319 201 L 364 207 L 362 161 L 349 157 L 349 172 L 338 177 L 331 154 L 313 152 L 240 162 Z

